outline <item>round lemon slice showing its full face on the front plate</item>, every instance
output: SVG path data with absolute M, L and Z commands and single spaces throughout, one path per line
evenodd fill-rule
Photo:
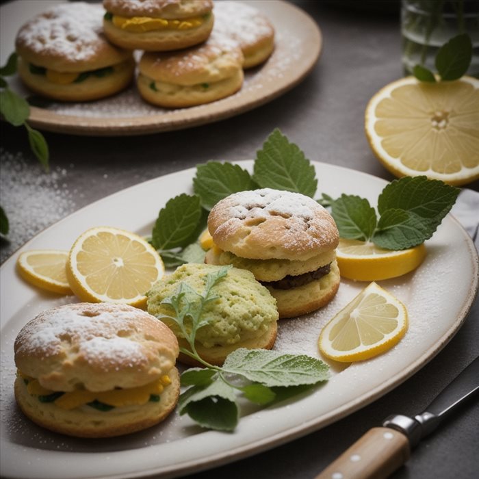
M 122 302 L 145 307 L 146 292 L 164 274 L 155 248 L 142 237 L 100 226 L 73 244 L 66 276 L 73 292 L 88 302 Z

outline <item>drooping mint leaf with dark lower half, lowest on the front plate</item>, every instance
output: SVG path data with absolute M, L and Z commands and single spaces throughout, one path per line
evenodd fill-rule
M 232 431 L 239 419 L 235 389 L 216 376 L 205 387 L 193 386 L 181 394 L 179 413 L 189 415 L 204 428 Z

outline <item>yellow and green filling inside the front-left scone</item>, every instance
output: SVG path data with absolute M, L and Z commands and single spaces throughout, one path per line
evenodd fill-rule
M 88 391 L 77 389 L 76 391 L 52 391 L 40 385 L 38 379 L 31 378 L 20 371 L 20 376 L 27 385 L 27 391 L 31 396 L 38 396 L 40 402 L 53 402 L 62 409 L 71 410 L 88 404 L 95 405 L 96 409 L 108 411 L 114 407 L 142 406 L 148 401 L 159 401 L 159 394 L 171 384 L 168 375 L 152 381 L 144 386 L 131 387 L 128 389 L 112 389 L 111 391 Z M 92 403 L 92 404 L 90 404 Z M 99 404 L 105 407 L 98 407 Z

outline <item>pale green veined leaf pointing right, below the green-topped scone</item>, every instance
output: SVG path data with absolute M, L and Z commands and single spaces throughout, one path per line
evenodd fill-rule
M 268 387 L 316 384 L 329 377 L 329 368 L 320 359 L 246 348 L 231 352 L 222 370 Z

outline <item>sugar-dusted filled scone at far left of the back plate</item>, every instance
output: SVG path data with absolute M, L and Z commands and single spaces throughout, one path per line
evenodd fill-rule
M 101 5 L 55 5 L 25 23 L 16 36 L 18 73 L 34 92 L 62 101 L 112 95 L 133 79 L 130 51 L 102 32 Z

